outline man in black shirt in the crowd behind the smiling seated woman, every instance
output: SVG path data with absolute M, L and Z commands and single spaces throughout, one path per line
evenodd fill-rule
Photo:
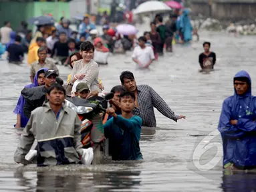
M 68 65 L 68 38 L 66 33 L 59 33 L 59 41 L 57 41 L 51 52 L 51 57 L 55 55 L 55 59 L 61 61 L 61 64 Z

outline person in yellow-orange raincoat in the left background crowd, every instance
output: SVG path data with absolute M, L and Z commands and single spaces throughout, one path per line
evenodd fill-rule
M 31 65 L 33 62 L 38 61 L 37 51 L 39 47 L 44 47 L 46 45 L 45 39 L 43 37 L 37 37 L 35 43 L 29 45 L 29 52 L 27 53 L 27 63 Z

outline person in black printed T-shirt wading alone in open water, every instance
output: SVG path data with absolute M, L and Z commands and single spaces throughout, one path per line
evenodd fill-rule
M 213 65 L 216 63 L 216 55 L 210 51 L 211 43 L 205 42 L 203 47 L 205 52 L 199 55 L 199 64 L 202 69 L 213 69 Z

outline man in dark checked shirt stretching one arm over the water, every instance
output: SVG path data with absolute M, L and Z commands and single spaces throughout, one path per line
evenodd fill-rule
M 148 85 L 137 86 L 132 72 L 123 71 L 120 75 L 120 81 L 127 91 L 131 91 L 136 95 L 135 107 L 132 113 L 142 118 L 142 126 L 156 127 L 154 107 L 162 115 L 173 121 L 186 118 L 184 115 L 175 115 L 164 99 L 152 87 Z

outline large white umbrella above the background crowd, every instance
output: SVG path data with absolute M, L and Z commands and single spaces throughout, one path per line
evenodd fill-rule
M 172 9 L 162 1 L 146 1 L 145 3 L 141 3 L 137 9 L 134 10 L 134 14 L 164 13 L 170 10 Z

